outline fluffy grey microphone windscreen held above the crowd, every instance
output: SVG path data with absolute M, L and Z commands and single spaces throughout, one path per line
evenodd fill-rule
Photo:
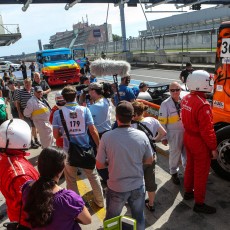
M 126 61 L 116 61 L 111 59 L 97 59 L 90 64 L 90 72 L 95 76 L 129 75 L 130 64 Z

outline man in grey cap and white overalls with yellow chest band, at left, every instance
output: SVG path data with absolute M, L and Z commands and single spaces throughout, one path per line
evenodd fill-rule
M 28 100 L 23 114 L 32 119 L 38 130 L 42 147 L 47 148 L 53 143 L 53 129 L 49 122 L 51 108 L 48 102 L 42 98 L 42 94 L 41 86 L 35 86 L 34 96 Z

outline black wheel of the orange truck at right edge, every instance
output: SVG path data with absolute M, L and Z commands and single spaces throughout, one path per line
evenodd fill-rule
M 219 156 L 212 160 L 212 169 L 220 177 L 230 181 L 230 126 L 216 131 Z

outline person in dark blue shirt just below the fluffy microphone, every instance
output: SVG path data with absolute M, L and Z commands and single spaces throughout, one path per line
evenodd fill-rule
M 118 87 L 119 97 L 117 95 L 116 89 L 114 92 L 114 98 L 112 100 L 113 104 L 116 106 L 119 101 L 126 100 L 133 102 L 135 100 L 135 95 L 131 88 L 128 87 L 130 83 L 130 76 L 125 76 L 121 78 L 121 84 Z

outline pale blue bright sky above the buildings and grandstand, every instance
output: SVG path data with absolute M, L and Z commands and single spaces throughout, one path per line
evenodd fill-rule
M 56 32 L 72 30 L 73 24 L 86 21 L 86 15 L 89 24 L 101 25 L 106 22 L 108 4 L 76 4 L 68 11 L 64 9 L 65 4 L 31 4 L 26 12 L 21 10 L 22 6 L 22 4 L 0 4 L 3 24 L 18 24 L 22 34 L 22 38 L 15 44 L 1 46 L 0 56 L 36 52 L 39 49 L 38 39 L 41 39 L 43 45 L 48 44 L 50 36 Z M 154 7 L 153 10 L 176 10 L 176 8 L 174 5 L 164 4 Z M 184 10 L 189 8 L 186 7 Z M 175 14 L 177 13 L 146 13 L 146 16 L 151 21 Z M 140 5 L 125 6 L 125 23 L 127 38 L 138 37 L 138 31 L 146 29 L 146 20 Z M 108 24 L 112 24 L 113 34 L 121 35 L 120 11 L 114 4 L 109 5 Z

